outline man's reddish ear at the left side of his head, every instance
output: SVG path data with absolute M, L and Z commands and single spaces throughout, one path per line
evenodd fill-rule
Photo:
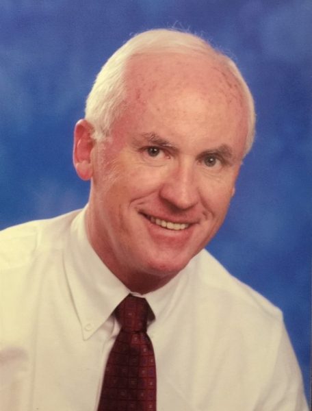
M 75 125 L 73 163 L 76 173 L 83 180 L 89 180 L 93 174 L 91 151 L 94 140 L 92 132 L 92 125 L 84 119 L 79 120 Z

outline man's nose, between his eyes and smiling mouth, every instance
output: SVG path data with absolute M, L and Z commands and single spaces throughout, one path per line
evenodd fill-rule
M 194 164 L 175 164 L 166 175 L 159 194 L 162 199 L 180 210 L 194 207 L 199 200 Z

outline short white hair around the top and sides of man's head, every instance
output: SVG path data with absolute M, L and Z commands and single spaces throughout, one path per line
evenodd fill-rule
M 127 63 L 136 55 L 151 53 L 203 54 L 218 58 L 242 87 L 248 105 L 248 136 L 245 154 L 255 136 L 255 105 L 251 92 L 236 64 L 202 38 L 176 29 L 153 29 L 133 36 L 107 60 L 96 77 L 86 101 L 86 120 L 94 127 L 93 138 L 101 140 L 110 132 L 126 99 L 125 73 Z

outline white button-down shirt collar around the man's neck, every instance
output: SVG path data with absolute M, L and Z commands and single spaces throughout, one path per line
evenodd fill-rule
M 94 334 L 109 319 L 120 301 L 131 293 L 109 271 L 90 245 L 85 225 L 86 208 L 71 223 L 64 253 L 68 284 L 85 339 Z M 183 271 L 187 274 L 188 270 Z M 146 295 L 132 293 L 146 298 L 156 321 L 168 311 L 172 295 L 186 286 L 188 276 L 182 275 L 183 271 L 158 290 Z

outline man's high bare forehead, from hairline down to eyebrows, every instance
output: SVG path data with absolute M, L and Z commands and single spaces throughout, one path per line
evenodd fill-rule
M 113 127 L 115 145 L 155 132 L 185 147 L 191 142 L 237 145 L 238 140 L 239 147 L 244 146 L 248 128 L 244 95 L 216 56 L 135 56 L 125 80 L 125 105 Z

